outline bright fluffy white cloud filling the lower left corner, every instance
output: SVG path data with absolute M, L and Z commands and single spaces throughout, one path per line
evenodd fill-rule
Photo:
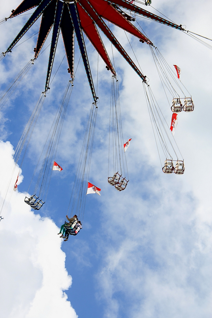
M 24 193 L 12 190 L 19 168 L 13 162 L 10 142 L 1 141 L 0 152 L 1 205 L 9 186 L 0 223 L 1 316 L 58 317 L 62 313 L 75 318 L 64 292 L 72 277 L 65 268 L 58 227 L 51 219 L 34 214 L 24 203 Z

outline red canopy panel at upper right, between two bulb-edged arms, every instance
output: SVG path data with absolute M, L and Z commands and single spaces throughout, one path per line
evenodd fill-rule
M 118 12 L 109 2 L 105 0 L 89 0 L 89 3 L 91 3 L 92 7 L 95 8 L 99 15 L 104 17 L 106 20 L 133 34 L 137 38 L 142 39 L 148 44 L 152 44 L 152 42 L 149 41 L 145 35 L 143 35 L 132 23 L 123 17 L 123 15 Z

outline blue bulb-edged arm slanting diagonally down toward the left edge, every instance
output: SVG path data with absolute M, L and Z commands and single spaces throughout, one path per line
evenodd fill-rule
M 47 6 L 52 2 L 53 0 L 43 0 L 38 8 L 35 10 L 35 12 L 31 15 L 29 20 L 26 22 L 22 30 L 18 33 L 17 37 L 13 40 L 13 42 L 10 44 L 6 52 L 9 52 L 16 43 L 20 40 L 20 38 L 23 37 L 23 35 L 26 33 L 26 31 L 29 30 L 29 28 L 32 26 L 32 24 L 35 23 L 35 21 L 40 17 L 40 15 L 44 12 L 44 10 L 47 8 Z

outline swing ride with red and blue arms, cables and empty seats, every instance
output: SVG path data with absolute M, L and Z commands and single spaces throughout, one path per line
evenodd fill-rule
M 179 80 L 179 76 L 177 76 L 178 78 L 176 78 L 173 70 L 168 66 L 167 62 L 165 61 L 157 47 L 155 47 L 151 40 L 147 37 L 147 35 L 143 34 L 138 28 L 136 28 L 132 22 L 136 21 L 137 17 L 143 17 L 182 31 L 193 38 L 195 38 L 195 35 L 197 34 L 185 30 L 181 24 L 174 24 L 173 22 L 168 21 L 163 17 L 159 17 L 147 10 L 142 9 L 140 6 L 135 5 L 135 2 L 136 1 L 130 0 L 24 0 L 17 7 L 17 9 L 11 11 L 12 13 L 8 18 L 0 21 L 0 24 L 2 24 L 3 22 L 6 22 L 11 18 L 14 18 L 27 12 L 28 10 L 35 8 L 34 12 L 32 14 L 30 13 L 30 18 L 25 23 L 21 31 L 17 34 L 16 38 L 8 46 L 7 50 L 0 55 L 0 60 L 2 60 L 6 55 L 12 53 L 13 48 L 15 47 L 17 42 L 24 36 L 24 34 L 31 28 L 31 26 L 38 20 L 38 18 L 41 17 L 37 45 L 34 48 L 34 57 L 11 82 L 6 91 L 0 97 L 0 108 L 6 104 L 10 94 L 14 92 L 17 85 L 23 79 L 25 74 L 29 72 L 35 61 L 38 59 L 39 55 L 42 53 L 44 43 L 52 29 L 44 92 L 41 94 L 38 103 L 36 104 L 32 112 L 32 115 L 26 125 L 26 128 L 24 129 L 24 132 L 20 138 L 14 154 L 14 161 L 16 163 L 18 162 L 18 160 L 20 160 L 22 155 L 21 163 L 19 164 L 20 168 L 22 166 L 24 156 L 30 143 L 36 122 L 38 120 L 38 116 L 44 104 L 46 93 L 50 90 L 52 67 L 60 33 L 62 34 L 65 47 L 65 54 L 68 63 L 67 70 L 71 76 L 42 151 L 42 154 L 45 154 L 44 160 L 39 172 L 38 180 L 33 190 L 33 195 L 31 195 L 30 197 L 25 197 L 24 200 L 26 204 L 29 204 L 35 210 L 39 210 L 43 206 L 49 190 L 52 174 L 51 165 L 52 162 L 55 160 L 55 156 L 57 154 L 58 142 L 73 89 L 73 81 L 75 78 L 74 38 L 76 38 L 79 45 L 81 58 L 85 67 L 88 83 L 91 89 L 93 103 L 85 131 L 85 138 L 80 154 L 79 165 L 77 168 L 68 211 L 71 207 L 72 215 L 77 212 L 82 220 L 84 218 L 87 180 L 89 178 L 98 109 L 98 97 L 96 95 L 93 84 L 84 34 L 86 38 L 90 40 L 95 50 L 104 61 L 106 69 L 112 73 L 109 120 L 108 183 L 113 185 L 116 190 L 122 191 L 126 189 L 127 183 L 129 182 L 127 161 L 125 156 L 126 149 L 124 148 L 125 146 L 123 147 L 123 145 L 126 144 L 124 144 L 122 133 L 118 79 L 115 67 L 111 62 L 111 59 L 109 58 L 106 47 L 100 36 L 100 30 L 142 80 L 159 157 L 161 160 L 159 151 L 160 147 L 163 156 L 165 156 L 166 158 L 164 166 L 161 161 L 162 171 L 167 174 L 173 172 L 175 174 L 184 173 L 184 159 L 182 158 L 180 150 L 174 141 L 170 129 L 167 128 L 168 125 L 166 124 L 166 120 L 162 114 L 159 105 L 157 104 L 157 101 L 150 86 L 147 83 L 147 76 L 143 75 L 143 73 L 135 65 L 133 60 L 122 47 L 118 39 L 114 36 L 110 28 L 110 23 L 118 26 L 119 28 L 138 38 L 140 43 L 142 43 L 141 45 L 143 45 L 144 43 L 149 45 L 157 72 L 161 80 L 162 87 L 168 99 L 169 105 L 171 103 L 171 111 L 173 113 L 180 113 L 181 111 L 192 112 L 194 110 L 194 103 L 191 94 L 181 83 L 181 81 Z M 145 0 L 145 2 L 143 3 L 138 3 L 150 6 L 151 0 Z M 180 68 L 176 65 L 174 65 L 174 67 L 178 72 L 177 75 L 180 75 Z M 129 142 L 130 140 L 131 139 L 129 139 L 127 142 Z M 24 150 L 24 154 L 22 154 L 22 150 Z M 40 158 L 42 157 L 42 154 Z M 38 168 L 39 165 L 37 165 L 36 169 Z M 111 171 L 113 173 L 110 174 Z M 34 172 L 33 177 L 35 176 L 35 174 L 36 172 Z M 111 177 L 111 175 L 113 176 Z

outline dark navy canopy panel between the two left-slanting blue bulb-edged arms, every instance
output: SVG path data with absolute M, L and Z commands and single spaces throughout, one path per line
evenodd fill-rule
M 48 12 L 44 11 L 41 23 L 40 23 L 40 30 L 38 33 L 38 40 L 37 40 L 37 45 L 35 49 L 35 58 L 38 57 L 38 54 L 44 45 L 44 42 L 51 30 L 51 27 L 54 23 L 54 15 L 55 15 L 55 6 L 56 6 L 57 0 L 53 0 L 49 7 L 48 7 Z

